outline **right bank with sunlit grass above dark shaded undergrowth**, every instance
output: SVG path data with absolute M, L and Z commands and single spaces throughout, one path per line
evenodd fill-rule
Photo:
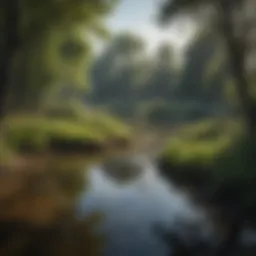
M 256 139 L 231 121 L 207 121 L 181 129 L 159 165 L 163 175 L 190 186 L 228 216 L 256 224 Z

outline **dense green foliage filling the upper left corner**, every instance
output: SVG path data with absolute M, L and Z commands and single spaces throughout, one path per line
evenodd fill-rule
M 53 87 L 88 88 L 85 69 L 92 58 L 92 38 L 107 36 L 103 18 L 113 4 L 2 1 L 1 104 L 7 100 L 12 110 L 35 109 Z

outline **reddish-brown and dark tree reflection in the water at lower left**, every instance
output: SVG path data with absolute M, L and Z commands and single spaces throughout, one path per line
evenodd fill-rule
M 85 173 L 74 163 L 62 164 L 57 168 L 50 162 L 43 173 L 30 170 L 1 177 L 0 255 L 102 253 L 104 239 L 94 233 L 102 216 L 77 219 L 74 212 L 77 196 L 88 185 Z

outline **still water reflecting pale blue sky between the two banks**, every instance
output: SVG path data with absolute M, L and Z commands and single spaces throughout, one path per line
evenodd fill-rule
M 204 212 L 185 193 L 167 184 L 150 160 L 140 161 L 143 171 L 121 183 L 110 178 L 101 165 L 89 170 L 90 190 L 81 197 L 78 214 L 104 213 L 105 255 L 170 255 L 170 248 L 154 231 L 156 224 L 190 241 L 210 239 L 213 232 Z

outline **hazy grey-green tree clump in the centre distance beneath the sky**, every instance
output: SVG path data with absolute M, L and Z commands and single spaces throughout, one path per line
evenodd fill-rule
M 178 77 L 173 55 L 170 43 L 163 43 L 150 55 L 140 36 L 118 34 L 94 64 L 93 102 L 110 105 L 112 111 L 134 117 L 143 103 L 172 99 Z

